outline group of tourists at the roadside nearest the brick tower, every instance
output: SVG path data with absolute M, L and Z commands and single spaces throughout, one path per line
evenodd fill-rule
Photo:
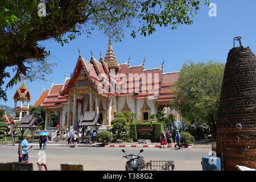
M 175 143 L 175 140 L 176 140 L 176 144 L 175 144 L 175 148 L 177 147 L 179 150 L 180 148 L 183 149 L 183 146 L 181 145 L 180 143 L 180 132 L 179 130 L 175 130 L 176 131 L 176 134 L 175 136 L 172 136 L 172 134 L 170 133 L 170 131 L 162 131 L 161 133 L 161 137 L 160 137 L 160 144 L 161 144 L 161 147 L 160 148 L 164 148 L 164 146 L 166 146 L 167 144 L 167 147 L 172 147 L 172 143 Z

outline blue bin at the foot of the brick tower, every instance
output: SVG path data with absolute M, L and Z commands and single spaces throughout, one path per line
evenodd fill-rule
M 203 156 L 202 161 L 203 171 L 221 171 L 221 159 L 214 156 Z

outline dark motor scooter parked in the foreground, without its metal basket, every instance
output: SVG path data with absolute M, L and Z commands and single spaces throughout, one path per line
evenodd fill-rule
M 125 150 L 122 150 L 123 153 L 125 153 Z M 143 150 L 139 151 L 139 154 L 141 154 L 143 152 Z M 138 171 L 141 170 L 139 167 L 142 166 L 145 161 L 143 159 L 143 156 L 139 156 L 138 155 L 134 155 L 134 154 L 130 154 L 127 155 L 125 153 L 125 156 L 123 156 L 126 159 L 129 159 L 129 161 L 126 162 L 125 164 L 125 170 L 126 171 Z

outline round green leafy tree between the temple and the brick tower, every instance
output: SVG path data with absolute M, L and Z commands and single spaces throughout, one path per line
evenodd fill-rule
M 218 105 L 220 104 L 221 86 L 225 64 L 209 61 L 208 63 L 184 63 L 179 79 L 173 84 L 176 99 L 171 107 L 179 110 L 183 118 L 191 123 L 207 125 L 216 131 Z

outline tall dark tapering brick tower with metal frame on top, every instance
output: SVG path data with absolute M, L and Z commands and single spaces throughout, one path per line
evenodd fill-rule
M 216 142 L 224 170 L 256 168 L 256 57 L 241 42 L 226 62 Z

